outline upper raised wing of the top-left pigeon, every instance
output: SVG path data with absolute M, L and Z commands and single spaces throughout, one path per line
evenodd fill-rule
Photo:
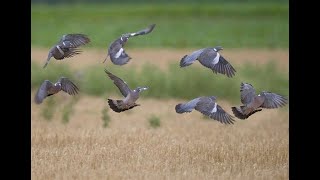
M 85 34 L 66 34 L 59 41 L 62 48 L 76 48 L 90 42 L 90 39 Z

